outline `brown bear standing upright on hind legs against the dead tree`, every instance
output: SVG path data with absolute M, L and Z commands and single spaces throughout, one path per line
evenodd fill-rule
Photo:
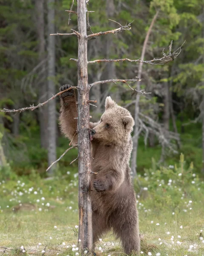
M 60 88 L 63 91 L 70 85 Z M 78 108 L 75 91 L 60 96 L 60 126 L 72 145 L 77 144 Z M 109 230 L 121 239 L 126 254 L 140 252 L 138 211 L 135 192 L 131 183 L 129 159 L 132 151 L 131 132 L 134 119 L 125 108 L 118 106 L 111 97 L 106 98 L 101 120 L 90 122 L 92 133 L 91 198 L 93 244 Z

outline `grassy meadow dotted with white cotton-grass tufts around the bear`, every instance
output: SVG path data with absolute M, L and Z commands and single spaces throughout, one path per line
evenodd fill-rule
M 148 190 L 140 190 L 135 184 L 140 233 L 144 235 L 141 255 L 204 256 L 204 182 L 193 175 L 193 166 L 185 168 L 182 157 L 177 166 L 146 170 L 139 180 Z M 78 251 L 73 252 L 72 245 L 78 246 L 77 175 L 52 180 L 36 175 L 32 180 L 20 177 L 1 181 L 0 246 L 11 249 L 4 255 L 41 256 L 46 247 L 44 255 L 75 256 Z M 112 233 L 102 239 L 96 247 L 98 256 L 124 255 Z

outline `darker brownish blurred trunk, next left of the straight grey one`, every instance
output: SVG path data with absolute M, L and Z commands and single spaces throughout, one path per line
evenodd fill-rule
M 45 22 L 44 22 L 44 0 L 35 0 L 36 8 L 36 29 L 38 37 L 38 60 L 39 62 L 43 61 L 45 58 Z M 46 72 L 46 63 L 44 62 L 41 65 L 43 70 L 42 76 L 45 76 Z M 46 76 L 45 76 L 46 77 Z M 47 83 L 43 80 L 39 85 L 39 96 L 38 102 L 45 102 L 48 96 Z M 39 121 L 40 121 L 40 144 L 41 147 L 48 147 L 48 136 L 47 136 L 47 126 L 48 126 L 48 107 L 47 105 L 42 106 L 38 112 Z

